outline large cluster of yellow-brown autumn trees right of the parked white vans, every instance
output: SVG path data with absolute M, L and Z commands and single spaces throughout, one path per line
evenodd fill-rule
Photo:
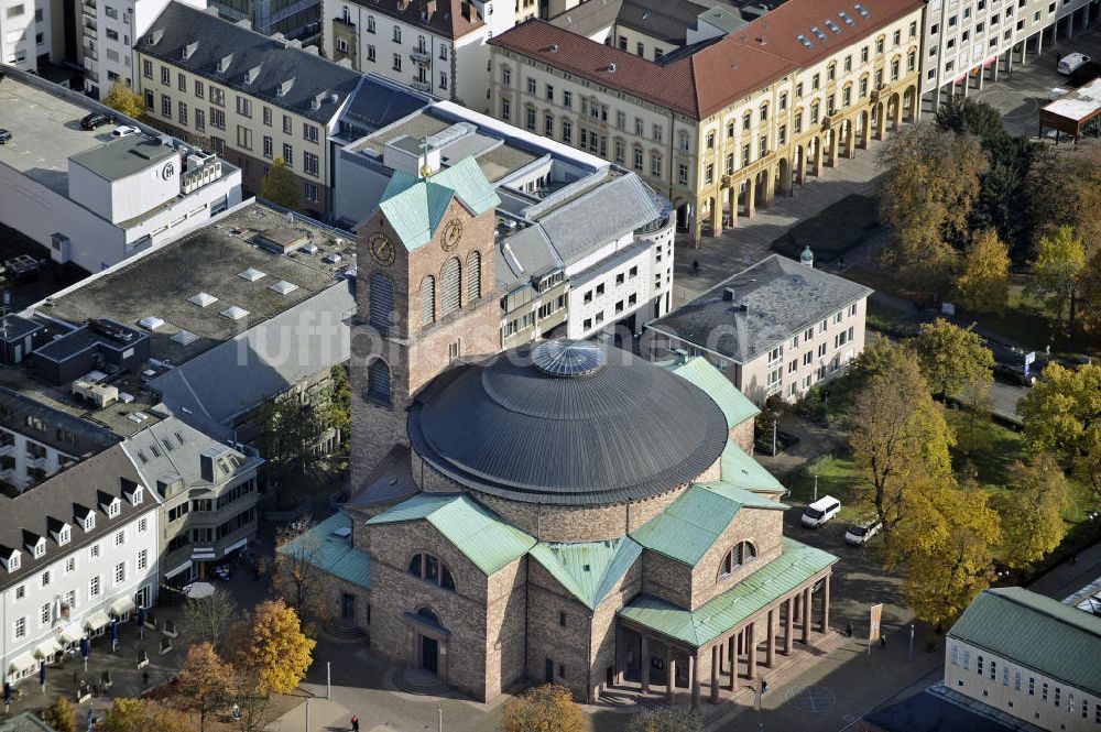
M 1047 451 L 1012 465 L 1007 502 L 992 502 L 966 462 L 953 465 L 957 434 L 934 396 L 985 418 L 992 367 L 972 330 L 937 320 L 911 341 L 875 341 L 848 378 L 859 502 L 882 522 L 882 560 L 902 571 L 907 603 L 935 623 L 953 619 L 990 584 L 995 550 L 1023 567 L 1066 534 L 1067 483 Z

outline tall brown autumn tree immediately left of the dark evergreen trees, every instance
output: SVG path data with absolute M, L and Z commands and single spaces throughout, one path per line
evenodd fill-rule
M 880 165 L 880 219 L 895 230 L 884 260 L 939 298 L 951 282 L 955 247 L 966 241 L 986 154 L 973 135 L 922 124 L 887 141 Z

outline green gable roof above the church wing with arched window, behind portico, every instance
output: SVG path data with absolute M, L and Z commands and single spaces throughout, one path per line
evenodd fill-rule
M 631 538 L 695 567 L 743 506 L 776 511 L 787 507 L 722 481 L 694 483 L 665 511 L 631 532 Z

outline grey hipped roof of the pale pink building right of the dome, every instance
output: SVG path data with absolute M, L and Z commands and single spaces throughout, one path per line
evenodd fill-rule
M 728 287 L 732 301 L 723 299 Z M 746 363 L 871 294 L 859 283 L 771 254 L 646 327 Z

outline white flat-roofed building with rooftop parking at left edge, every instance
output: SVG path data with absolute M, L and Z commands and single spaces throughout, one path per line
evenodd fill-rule
M 81 130 L 89 111 L 111 110 L 36 76 L 10 69 L 0 107 L 12 133 L 0 146 L 0 221 L 55 262 L 99 272 L 241 200 L 235 166 L 133 120 L 120 121 L 141 131 L 122 138 Z

